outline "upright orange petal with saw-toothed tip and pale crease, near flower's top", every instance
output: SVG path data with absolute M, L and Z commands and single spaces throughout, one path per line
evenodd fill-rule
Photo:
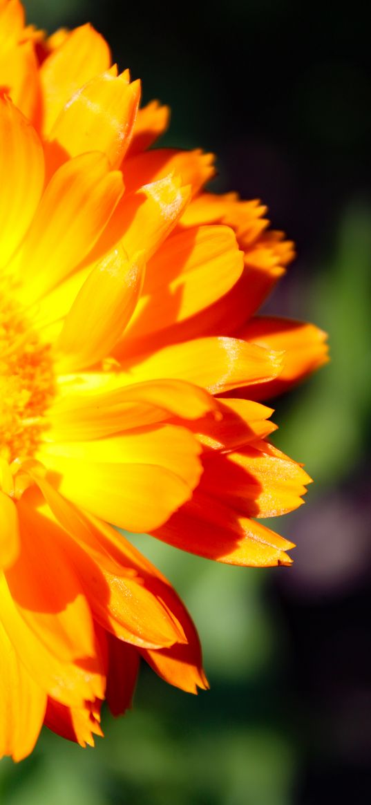
M 117 76 L 114 68 L 93 78 L 56 119 L 49 135 L 52 149 L 69 156 L 103 151 L 110 166 L 118 167 L 130 144 L 139 97 L 139 81 L 130 84 L 126 73 Z

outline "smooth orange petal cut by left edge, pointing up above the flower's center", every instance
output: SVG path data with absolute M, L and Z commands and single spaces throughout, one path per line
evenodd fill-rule
M 26 233 L 43 190 L 43 149 L 19 109 L 0 96 L 0 262 L 6 266 Z

